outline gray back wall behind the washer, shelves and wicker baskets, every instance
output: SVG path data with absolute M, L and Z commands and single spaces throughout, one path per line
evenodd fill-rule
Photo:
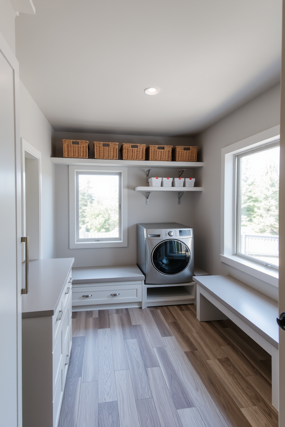
M 149 145 L 193 145 L 192 138 L 143 137 L 134 135 L 80 134 L 56 132 L 55 152 L 62 157 L 62 139 L 89 140 L 90 152 L 93 141 L 132 142 Z M 89 153 L 89 157 L 91 157 Z M 93 154 L 94 157 L 94 154 Z M 193 195 L 184 193 L 178 205 L 177 193 L 151 193 L 146 205 L 145 193 L 135 192 L 135 187 L 145 186 L 147 167 L 128 168 L 128 246 L 125 248 L 69 249 L 69 195 L 68 166 L 56 166 L 56 257 L 74 257 L 74 266 L 108 266 L 136 264 L 136 224 L 138 222 L 180 222 L 193 225 Z M 181 169 L 181 168 L 180 168 Z M 177 177 L 180 169 L 156 169 L 150 176 Z M 183 176 L 194 176 L 193 170 Z

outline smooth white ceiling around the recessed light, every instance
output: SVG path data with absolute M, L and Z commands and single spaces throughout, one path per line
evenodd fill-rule
M 193 135 L 280 80 L 282 0 L 33 3 L 20 78 L 58 131 Z

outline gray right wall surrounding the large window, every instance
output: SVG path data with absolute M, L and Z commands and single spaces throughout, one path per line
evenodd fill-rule
M 220 261 L 220 188 L 221 149 L 279 123 L 280 85 L 276 85 L 194 139 L 204 162 L 203 169 L 195 170 L 197 186 L 203 186 L 203 192 L 194 195 L 195 263 L 211 275 L 230 274 L 276 300 L 277 288 Z

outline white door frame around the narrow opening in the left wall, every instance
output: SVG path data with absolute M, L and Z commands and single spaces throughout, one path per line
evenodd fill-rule
M 38 203 L 39 208 L 39 240 L 40 240 L 40 253 L 39 256 L 35 259 L 41 259 L 42 256 L 42 230 L 41 230 L 41 152 L 38 151 L 32 144 L 27 142 L 24 138 L 21 138 L 21 193 L 22 193 L 22 235 L 26 236 L 26 185 L 25 185 L 25 158 L 27 157 L 26 153 L 31 155 L 31 158 L 38 160 L 38 182 L 39 182 L 39 193 L 35 195 L 36 202 Z M 29 242 L 31 243 L 31 242 Z M 23 248 L 24 249 L 24 248 Z M 29 257 L 29 259 L 32 259 Z M 22 254 L 22 261 L 24 261 L 24 250 Z

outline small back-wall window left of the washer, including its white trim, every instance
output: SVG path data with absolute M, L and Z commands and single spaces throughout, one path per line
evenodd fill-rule
M 126 168 L 69 168 L 70 247 L 127 246 Z

